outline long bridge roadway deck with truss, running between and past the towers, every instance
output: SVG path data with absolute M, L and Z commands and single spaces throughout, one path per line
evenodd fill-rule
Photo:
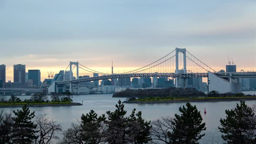
M 256 78 L 256 72 L 215 72 L 214 74 L 222 77 L 222 78 L 230 78 L 230 74 L 232 78 Z M 112 74 L 112 75 L 101 75 L 96 77 L 82 78 L 82 79 L 74 79 L 71 80 L 71 83 L 79 83 L 79 82 L 90 82 L 95 80 L 102 79 L 117 79 L 117 78 L 138 78 L 138 77 L 179 77 L 179 78 L 190 78 L 190 77 L 208 77 L 208 73 L 130 73 L 130 74 Z M 59 81 L 56 82 L 57 85 L 69 84 L 68 81 Z

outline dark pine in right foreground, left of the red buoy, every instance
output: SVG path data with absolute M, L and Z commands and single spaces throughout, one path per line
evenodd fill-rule
M 175 118 L 171 121 L 174 125 L 173 131 L 168 132 L 171 144 L 199 144 L 200 140 L 205 134 L 200 134 L 201 131 L 206 130 L 205 123 L 202 123 L 202 116 L 197 107 L 190 103 L 179 108 L 181 115 L 175 114 Z

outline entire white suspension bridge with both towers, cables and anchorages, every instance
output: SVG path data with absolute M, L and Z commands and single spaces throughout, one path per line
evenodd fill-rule
M 72 68 L 73 65 L 74 67 Z M 76 71 L 73 71 L 75 67 Z M 69 73 L 66 71 L 68 68 Z M 256 72 L 217 72 L 193 56 L 187 49 L 179 48 L 174 49 L 161 59 L 151 62 L 139 69 L 123 71 L 117 74 L 95 71 L 79 62 L 69 62 L 66 70 L 64 72 L 62 71 L 62 75 L 59 73 L 59 79 L 53 79 L 53 85 L 48 89 L 49 92 L 66 92 L 68 89 L 66 87 L 68 86 L 69 92 L 79 94 L 79 88 L 97 88 L 98 80 L 136 77 L 171 78 L 175 79 L 175 87 L 186 88 L 188 86 L 188 79 L 199 77 L 200 79 L 207 79 L 205 81 L 208 81 L 209 91 L 216 90 L 219 92 L 236 93 L 241 91 L 239 83 L 240 78 L 256 77 Z M 73 73 L 75 73 L 76 78 L 73 77 Z M 93 86 L 84 85 L 86 82 L 91 81 L 94 82 Z

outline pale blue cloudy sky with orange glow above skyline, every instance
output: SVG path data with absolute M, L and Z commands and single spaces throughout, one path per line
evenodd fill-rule
M 186 48 L 220 70 L 256 71 L 256 0 L 0 0 L 0 64 L 47 72 L 69 61 L 111 72 Z

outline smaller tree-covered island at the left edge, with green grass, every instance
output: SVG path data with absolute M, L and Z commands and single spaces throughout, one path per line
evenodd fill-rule
M 72 93 L 70 92 L 53 93 L 51 100 L 49 100 L 47 95 L 36 93 L 30 99 L 21 100 L 15 95 L 11 95 L 8 100 L 5 97 L 0 97 L 0 108 L 22 107 L 23 105 L 27 105 L 28 107 L 82 105 L 72 102 L 71 96 Z

